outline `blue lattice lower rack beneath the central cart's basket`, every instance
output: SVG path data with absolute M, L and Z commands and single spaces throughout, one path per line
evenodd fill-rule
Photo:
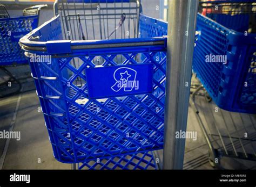
M 79 163 L 78 169 L 103 170 L 103 169 L 158 169 L 152 152 L 138 153 L 133 155 L 117 156 L 111 159 Z

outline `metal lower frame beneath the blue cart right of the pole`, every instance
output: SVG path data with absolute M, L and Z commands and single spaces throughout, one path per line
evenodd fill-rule
M 204 93 L 200 93 L 201 90 L 203 90 Z M 221 167 L 220 159 L 224 156 L 233 157 L 235 159 L 256 161 L 256 149 L 255 149 L 256 125 L 252 120 L 252 116 L 248 114 L 252 123 L 252 128 L 254 129 L 254 132 L 248 132 L 248 128 L 250 128 L 250 126 L 249 127 L 246 126 L 244 124 L 244 121 L 242 121 L 243 128 L 239 129 L 238 126 L 235 124 L 230 113 L 230 117 L 232 120 L 231 127 L 233 127 L 235 130 L 234 132 L 230 132 L 231 127 L 228 126 L 228 124 L 226 123 L 226 120 L 224 118 L 224 113 L 223 113 L 224 111 L 221 109 L 218 109 L 221 114 L 221 117 L 224 119 L 224 127 L 225 127 L 224 130 L 225 130 L 225 133 L 227 134 L 227 135 L 224 135 L 223 134 L 224 130 L 220 130 L 220 125 L 218 125 L 218 123 L 215 120 L 213 109 L 208 109 L 208 113 L 212 117 L 213 121 L 207 121 L 206 124 L 203 123 L 200 117 L 200 113 L 202 111 L 198 109 L 199 107 L 195 101 L 196 95 L 203 95 L 205 97 L 208 96 L 202 84 L 200 84 L 196 90 L 192 91 L 192 94 L 190 97 L 190 106 L 192 107 L 193 111 L 196 113 L 198 124 L 201 128 L 201 131 L 204 134 L 206 143 L 208 145 L 208 149 L 209 149 L 208 159 L 211 166 L 222 169 L 223 167 Z M 211 99 L 208 99 L 208 97 L 206 97 L 206 102 L 211 102 Z M 238 114 L 242 120 L 241 114 L 240 113 Z M 215 131 L 217 132 L 217 134 L 213 133 L 212 128 L 215 128 Z M 249 138 L 242 137 L 241 131 L 243 133 L 247 133 Z M 230 142 L 226 143 L 224 139 L 228 139 L 230 140 Z M 250 153 L 248 153 L 248 147 L 247 148 L 245 147 L 248 144 L 250 144 L 252 148 L 250 150 L 251 151 Z

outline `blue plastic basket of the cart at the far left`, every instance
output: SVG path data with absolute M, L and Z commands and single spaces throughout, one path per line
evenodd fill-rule
M 38 16 L 0 19 L 0 66 L 28 63 L 18 41 L 37 25 Z

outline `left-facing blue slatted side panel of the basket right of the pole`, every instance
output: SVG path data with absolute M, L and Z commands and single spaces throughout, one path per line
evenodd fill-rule
M 216 55 L 226 55 L 228 31 L 213 21 L 198 15 L 197 46 L 194 49 L 193 70 L 215 100 L 218 97 L 223 62 L 216 62 Z

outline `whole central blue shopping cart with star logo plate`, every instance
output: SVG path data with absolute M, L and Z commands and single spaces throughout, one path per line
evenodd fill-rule
M 56 16 L 20 40 L 39 59 L 29 64 L 54 157 L 79 169 L 155 168 L 166 67 L 166 38 L 150 35 L 161 32 L 157 20 L 144 22 L 132 0 L 54 6 Z

